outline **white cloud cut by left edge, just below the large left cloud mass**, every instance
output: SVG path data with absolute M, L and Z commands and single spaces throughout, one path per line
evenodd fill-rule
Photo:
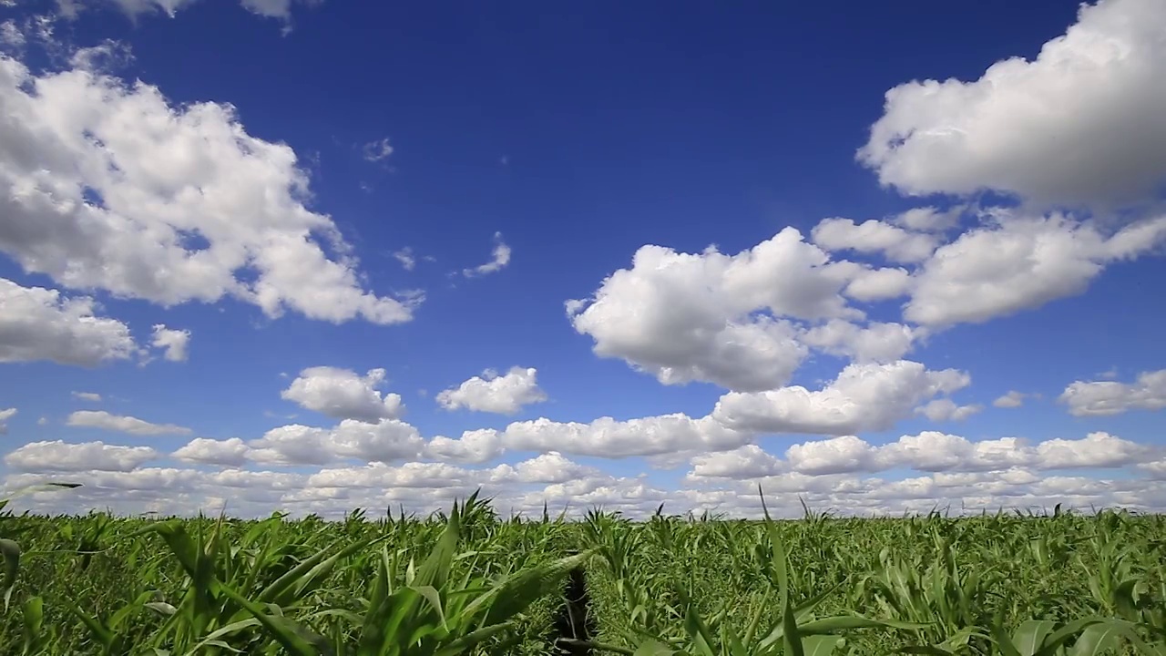
M 7 224 L 0 222 L 0 233 Z M 96 367 L 138 353 L 128 326 L 96 312 L 97 303 L 87 296 L 66 299 L 56 289 L 21 287 L 0 278 L 0 362 Z

